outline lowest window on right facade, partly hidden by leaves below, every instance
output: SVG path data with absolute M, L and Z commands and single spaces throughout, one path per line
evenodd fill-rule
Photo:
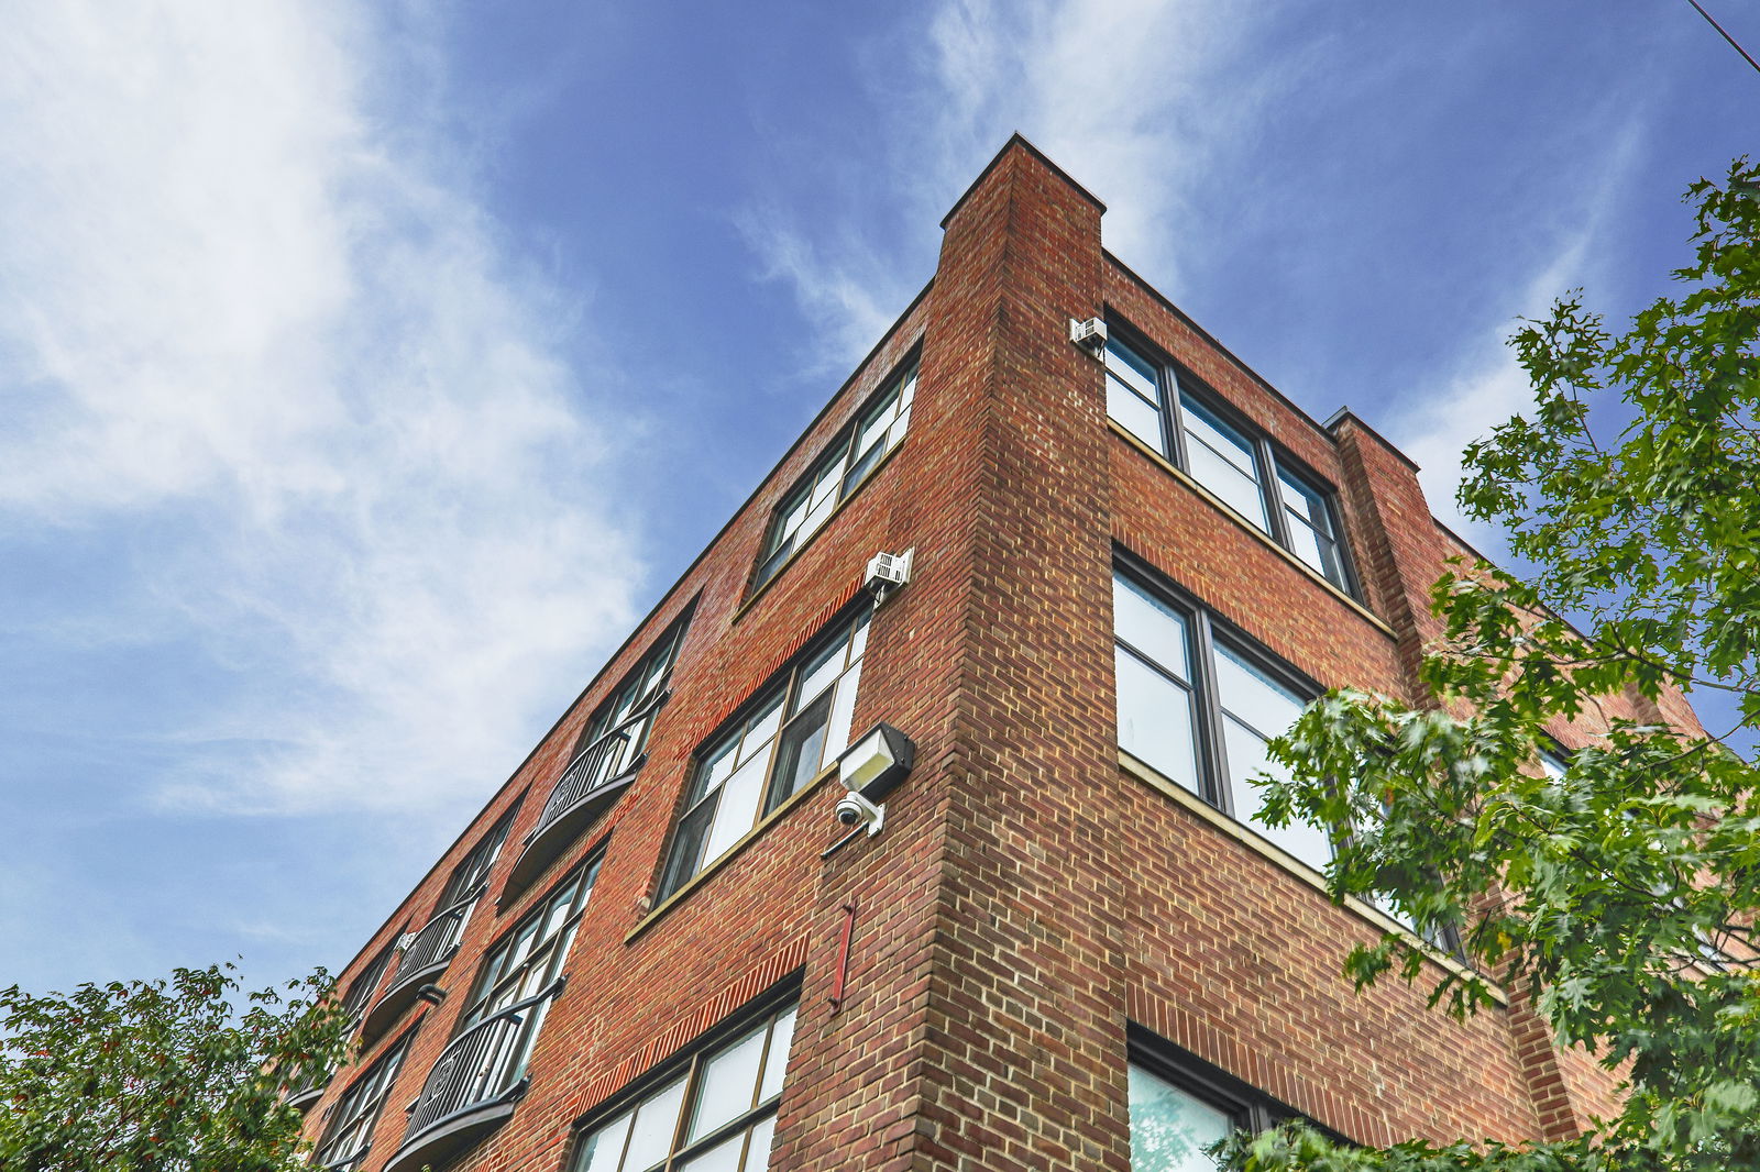
M 1128 1077 L 1132 1172 L 1213 1172 L 1216 1165 L 1204 1149 L 1230 1132 L 1257 1133 L 1299 1117 L 1269 1095 L 1137 1026 L 1132 1026 Z

